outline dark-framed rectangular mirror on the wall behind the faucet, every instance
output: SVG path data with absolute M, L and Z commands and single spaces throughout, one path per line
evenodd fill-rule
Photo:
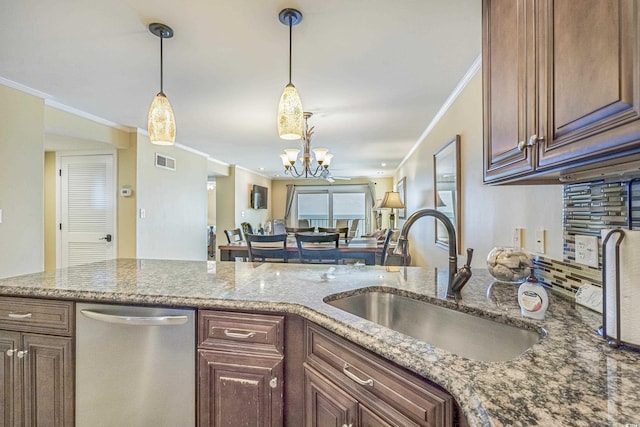
M 456 230 L 456 246 L 460 252 L 460 135 L 456 135 L 433 155 L 434 206 L 444 213 Z M 447 229 L 435 220 L 436 244 L 449 247 Z

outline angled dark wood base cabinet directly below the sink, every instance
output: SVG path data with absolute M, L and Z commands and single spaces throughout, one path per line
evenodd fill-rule
M 440 387 L 316 325 L 306 325 L 305 426 L 464 424 Z

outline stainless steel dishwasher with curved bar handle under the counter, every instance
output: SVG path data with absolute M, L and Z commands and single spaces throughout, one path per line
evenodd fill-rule
M 76 426 L 194 426 L 195 311 L 76 304 Z

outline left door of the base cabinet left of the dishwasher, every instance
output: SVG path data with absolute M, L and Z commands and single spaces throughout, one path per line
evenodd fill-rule
M 18 374 L 18 358 L 15 350 L 21 344 L 19 332 L 0 331 L 0 351 L 2 355 L 0 367 L 2 382 L 0 382 L 0 426 L 9 427 L 20 425 L 20 376 Z M 18 388 L 18 389 L 17 389 Z

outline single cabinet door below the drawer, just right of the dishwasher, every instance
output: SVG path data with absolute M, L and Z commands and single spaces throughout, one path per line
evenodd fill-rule
M 281 426 L 283 358 L 198 350 L 200 426 Z

